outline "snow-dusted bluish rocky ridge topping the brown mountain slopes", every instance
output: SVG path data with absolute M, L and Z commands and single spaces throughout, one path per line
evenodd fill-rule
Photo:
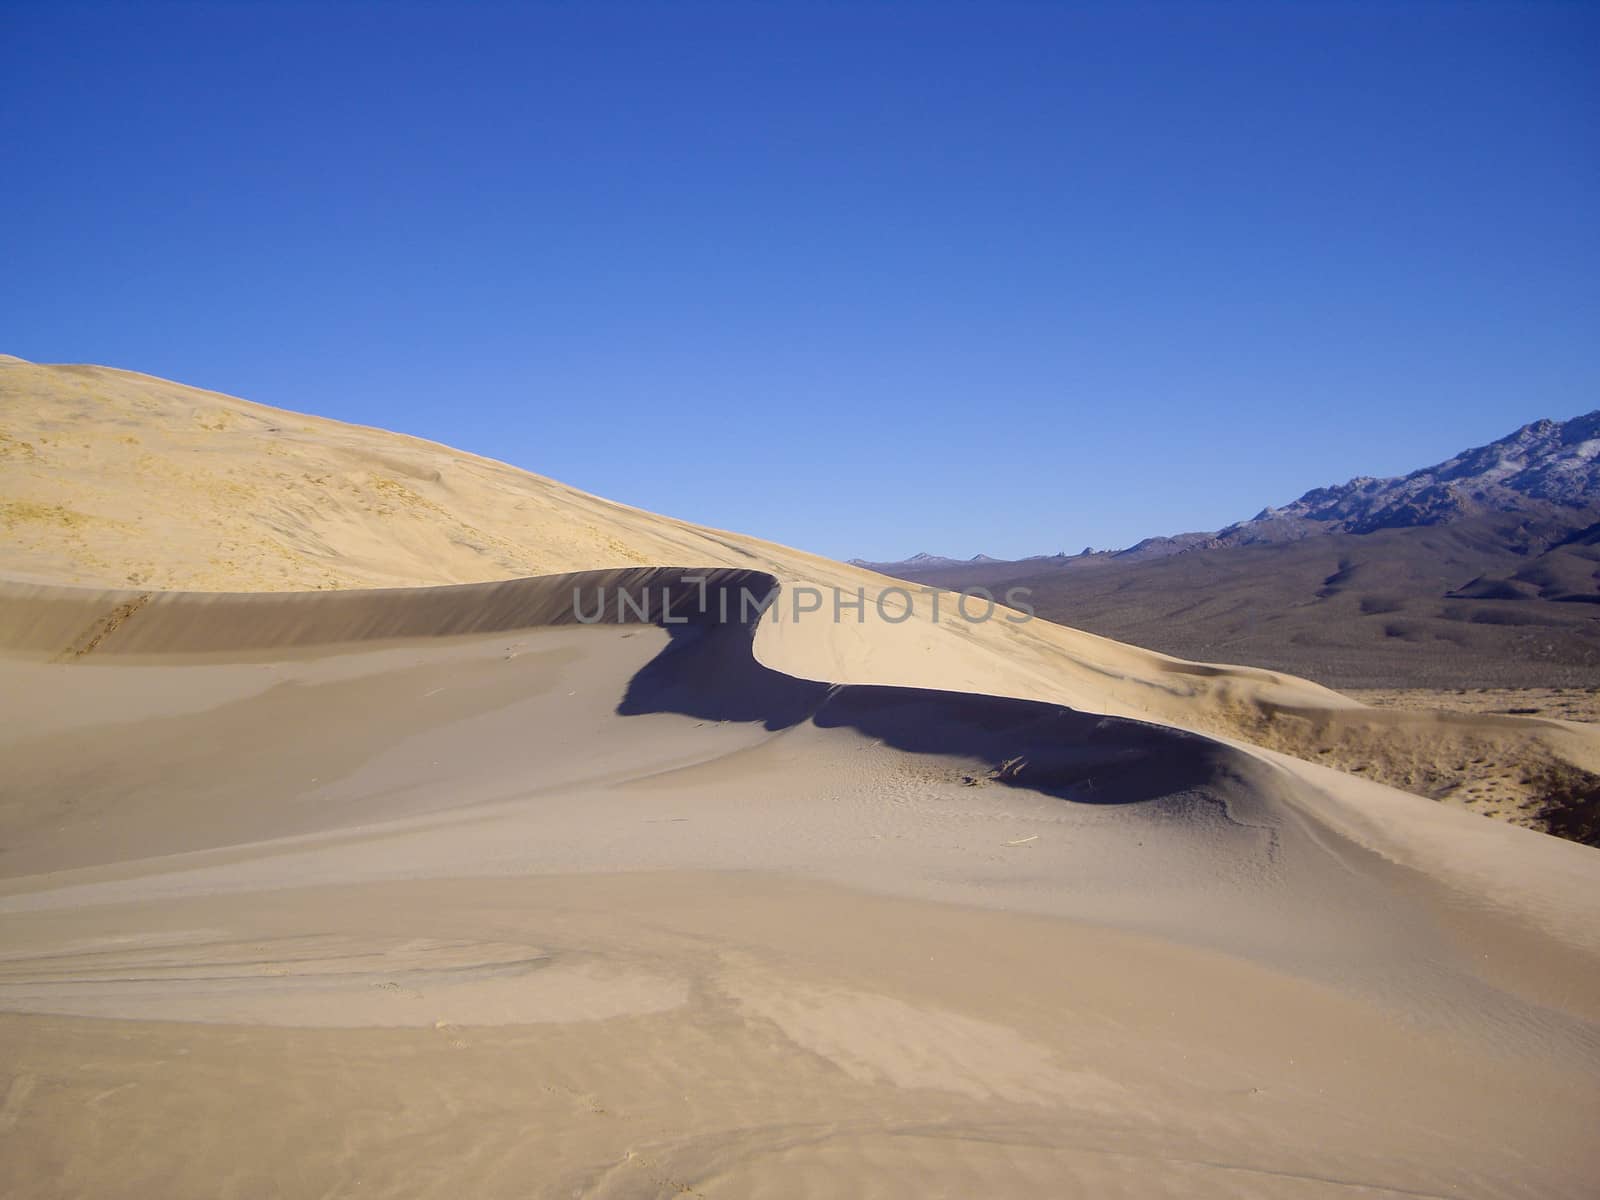
M 1090 550 L 1080 555 L 1034 555 L 1016 562 L 1066 562 L 1082 557 L 1160 558 L 1171 554 L 1222 546 L 1272 546 L 1331 533 L 1368 534 L 1446 525 L 1469 517 L 1526 512 L 1557 517 L 1563 510 L 1600 506 L 1600 410 L 1570 421 L 1533 421 L 1485 446 L 1464 450 L 1410 475 L 1376 478 L 1358 475 L 1347 483 L 1312 488 L 1282 507 L 1266 507 L 1254 517 L 1211 533 L 1179 533 L 1146 538 L 1123 550 Z M 1576 522 L 1587 525 L 1589 522 Z M 944 558 L 918 554 L 885 566 L 952 566 L 997 562 Z

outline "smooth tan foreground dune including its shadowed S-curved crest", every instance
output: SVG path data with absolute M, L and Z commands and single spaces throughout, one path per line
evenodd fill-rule
M 682 574 L 166 594 L 69 661 L 32 589 L 0 1027 L 45 1154 L 10 1190 L 200 1192 L 182 1147 L 272 1114 L 294 1166 L 235 1149 L 258 1187 L 1582 1194 L 1594 851 L 797 678 L 755 622 L 573 619 L 574 584 Z

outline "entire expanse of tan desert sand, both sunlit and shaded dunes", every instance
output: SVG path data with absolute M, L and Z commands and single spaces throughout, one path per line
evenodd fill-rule
M 106 368 L 0 397 L 5 1194 L 1592 1194 L 1600 853 L 1384 782 L 1592 726 L 891 624 Z

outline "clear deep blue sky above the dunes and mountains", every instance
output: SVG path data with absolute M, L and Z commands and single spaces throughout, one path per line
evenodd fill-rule
M 0 0 L 0 350 L 834 557 L 1600 406 L 1600 6 Z

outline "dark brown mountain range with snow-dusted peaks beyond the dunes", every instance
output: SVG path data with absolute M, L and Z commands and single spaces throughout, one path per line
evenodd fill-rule
M 1040 616 L 1346 688 L 1600 686 L 1600 411 L 1205 533 L 998 562 L 861 563 L 1029 587 Z

